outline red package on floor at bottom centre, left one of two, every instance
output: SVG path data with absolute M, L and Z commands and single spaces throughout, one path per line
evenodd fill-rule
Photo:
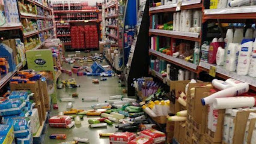
M 135 138 L 136 138 L 136 134 L 129 133 L 129 132 L 117 132 L 109 136 L 110 144 L 128 143 Z

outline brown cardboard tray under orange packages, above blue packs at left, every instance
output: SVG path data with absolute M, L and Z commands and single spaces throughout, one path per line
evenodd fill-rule
M 39 89 L 38 89 L 38 82 L 35 83 L 10 83 L 10 89 L 11 91 L 16 91 L 16 90 L 30 90 L 31 92 L 34 93 L 34 96 L 32 97 L 32 100 L 35 103 L 40 102 L 40 94 L 39 94 Z

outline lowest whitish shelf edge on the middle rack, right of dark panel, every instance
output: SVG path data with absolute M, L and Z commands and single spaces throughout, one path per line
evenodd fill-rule
M 156 50 L 152 50 L 152 49 L 149 49 L 149 52 L 154 53 L 155 55 L 160 56 L 162 58 L 165 58 L 165 59 L 169 60 L 169 62 L 176 62 L 180 65 L 184 65 L 184 66 L 189 67 L 193 70 L 197 70 L 197 65 L 196 64 L 192 64 L 190 62 L 184 61 L 184 59 L 174 58 L 172 56 L 165 55 L 165 53 L 157 52 Z

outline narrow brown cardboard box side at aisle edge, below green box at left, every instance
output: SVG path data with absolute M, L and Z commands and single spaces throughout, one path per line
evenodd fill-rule
M 45 110 L 50 110 L 50 96 L 48 95 L 47 82 L 46 81 L 42 82 L 40 80 L 40 88 L 43 94 L 44 108 Z

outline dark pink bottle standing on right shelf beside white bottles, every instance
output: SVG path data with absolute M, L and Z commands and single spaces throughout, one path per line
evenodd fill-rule
M 225 47 L 225 42 L 215 42 L 215 43 L 210 43 L 209 47 L 209 54 L 208 54 L 208 62 L 210 64 L 216 64 L 216 54 L 218 51 L 218 47 Z

